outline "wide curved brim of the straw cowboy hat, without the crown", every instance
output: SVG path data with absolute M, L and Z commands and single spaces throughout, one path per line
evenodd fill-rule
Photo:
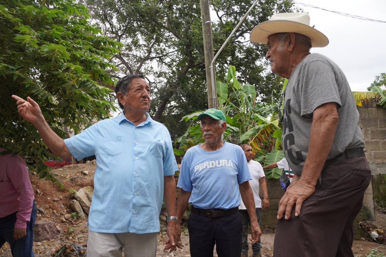
M 267 44 L 269 36 L 282 32 L 293 32 L 307 36 L 311 39 L 312 47 L 325 47 L 329 42 L 328 38 L 319 30 L 290 20 L 268 20 L 262 22 L 252 29 L 251 42 Z

